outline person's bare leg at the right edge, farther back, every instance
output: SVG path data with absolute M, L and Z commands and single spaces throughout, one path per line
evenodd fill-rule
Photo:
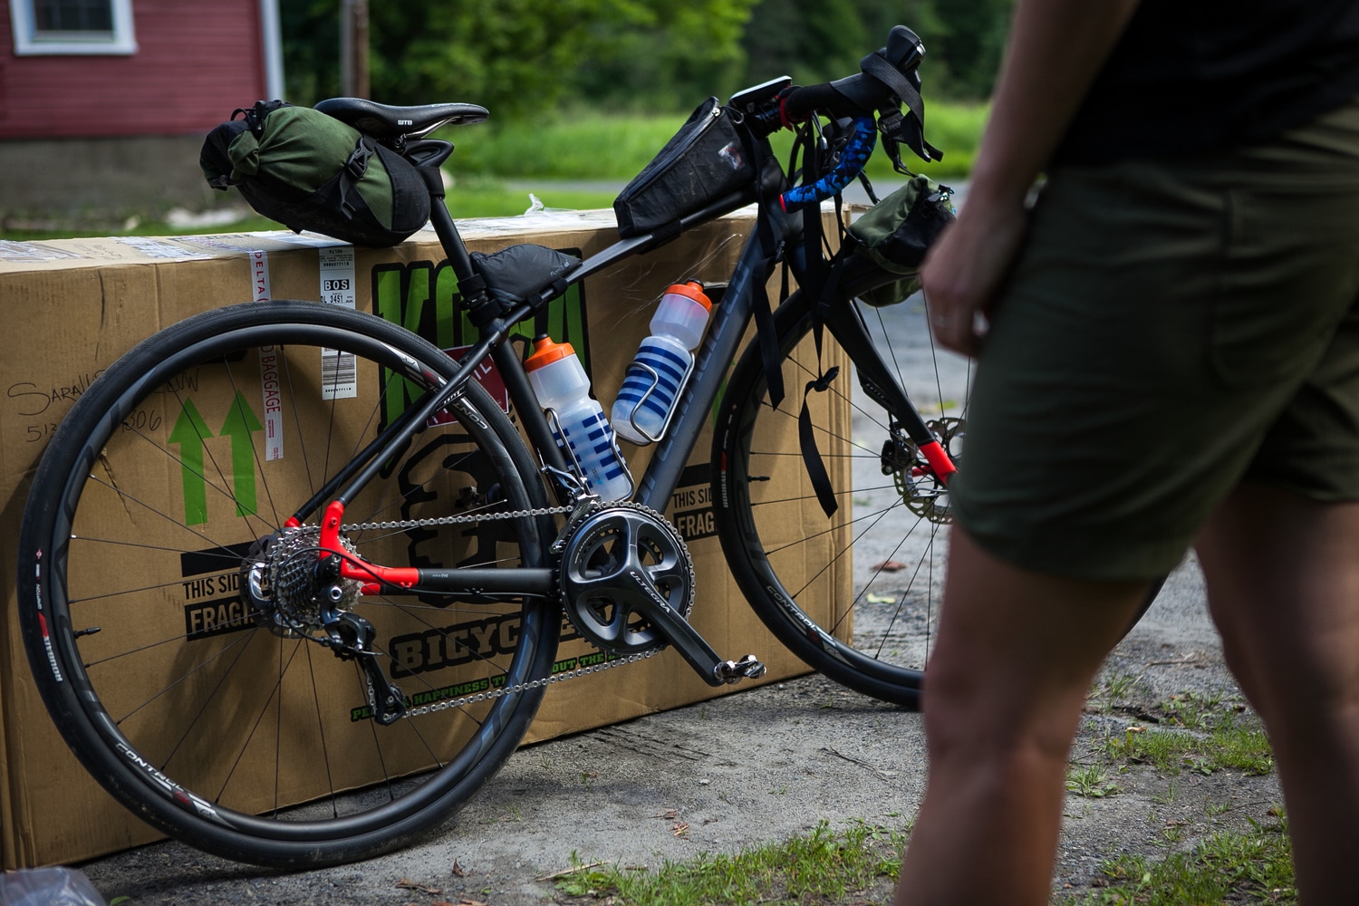
M 1273 744 L 1302 902 L 1352 903 L 1359 503 L 1242 485 L 1196 546 L 1227 666 Z

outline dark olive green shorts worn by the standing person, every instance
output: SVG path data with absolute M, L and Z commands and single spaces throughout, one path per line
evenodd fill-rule
M 1055 171 L 978 359 L 954 513 L 1037 572 L 1169 572 L 1241 481 L 1359 500 L 1359 103 Z

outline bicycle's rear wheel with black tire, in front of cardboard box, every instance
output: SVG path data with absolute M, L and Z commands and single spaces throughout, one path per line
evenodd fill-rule
M 277 459 L 262 452 L 265 431 L 257 428 L 266 425 L 245 414 L 258 405 L 272 417 L 261 395 L 266 357 L 257 352 L 268 346 L 279 356 Z M 329 380 L 325 350 L 352 353 L 352 372 L 341 365 Z M 141 342 L 63 421 L 20 530 L 24 647 L 67 743 L 144 820 L 260 865 L 368 858 L 453 815 L 522 740 L 542 686 L 381 727 L 356 660 L 325 651 L 304 637 L 310 630 L 262 619 L 231 590 L 245 581 L 239 564 L 253 541 L 314 496 L 383 417 L 455 369 L 444 352 L 368 314 L 249 303 Z M 355 388 L 376 391 L 372 399 L 341 395 L 351 374 Z M 549 518 L 484 519 L 496 508 L 546 505 L 533 459 L 481 386 L 469 383 L 462 399 L 383 463 L 348 504 L 345 523 L 459 512 L 482 519 L 351 532 L 355 551 L 376 554 L 371 562 L 545 564 Z M 245 429 L 228 425 L 235 414 Z M 181 429 L 186 424 L 192 431 Z M 314 550 L 299 542 L 296 554 Z M 406 558 L 391 562 L 394 556 Z M 204 598 L 222 591 L 224 598 Z M 289 613 L 304 615 L 308 600 L 296 592 Z M 438 603 L 393 595 L 352 604 L 376 630 L 381 667 L 401 675 L 412 706 L 550 675 L 556 603 Z

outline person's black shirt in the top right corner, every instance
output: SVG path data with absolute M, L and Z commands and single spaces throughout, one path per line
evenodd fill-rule
M 1143 0 L 1055 163 L 1252 144 L 1355 94 L 1359 0 Z

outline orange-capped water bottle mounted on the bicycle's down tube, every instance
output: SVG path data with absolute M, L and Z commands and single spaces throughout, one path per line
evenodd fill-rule
M 677 283 L 660 296 L 651 318 L 651 336 L 641 341 L 613 402 L 614 431 L 624 440 L 660 440 L 674 414 L 675 399 L 693 371 L 693 349 L 703 342 L 712 303 L 696 281 Z

